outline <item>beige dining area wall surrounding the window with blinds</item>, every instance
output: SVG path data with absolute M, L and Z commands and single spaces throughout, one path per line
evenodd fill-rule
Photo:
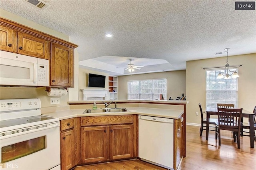
M 230 65 L 242 64 L 238 68 L 238 107 L 252 111 L 256 106 L 256 53 L 230 56 L 228 61 Z M 206 76 L 202 68 L 225 64 L 226 57 L 186 62 L 187 123 L 200 123 L 200 115 L 195 115 L 196 111 L 200 112 L 198 103 L 201 103 L 203 110 L 206 108 Z

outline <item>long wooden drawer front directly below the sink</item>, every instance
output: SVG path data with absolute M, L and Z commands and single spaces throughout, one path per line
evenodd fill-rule
M 133 123 L 132 115 L 81 117 L 81 126 Z

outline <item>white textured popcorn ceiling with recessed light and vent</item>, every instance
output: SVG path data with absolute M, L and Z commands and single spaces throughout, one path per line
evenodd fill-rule
M 45 10 L 24 0 L 0 0 L 0 8 L 69 35 L 79 45 L 79 61 L 99 61 L 102 64 L 93 69 L 101 71 L 106 64 L 114 68 L 128 64 L 129 58 L 135 65 L 136 58 L 144 59 L 143 72 L 155 72 L 184 70 L 190 60 L 224 57 L 214 53 L 227 47 L 229 55 L 256 53 L 256 11 L 235 10 L 235 0 L 44 2 L 49 5 Z M 107 39 L 105 33 L 114 36 Z M 122 62 L 106 62 L 115 56 Z M 168 64 L 146 68 L 147 59 Z

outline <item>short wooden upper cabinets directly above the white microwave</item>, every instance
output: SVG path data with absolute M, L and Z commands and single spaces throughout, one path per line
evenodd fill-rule
M 49 42 L 35 35 L 0 26 L 0 49 L 12 53 L 49 59 Z

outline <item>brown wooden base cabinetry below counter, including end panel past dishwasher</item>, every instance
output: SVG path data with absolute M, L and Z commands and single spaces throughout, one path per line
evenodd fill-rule
M 184 115 L 174 119 L 174 169 L 182 159 Z M 76 165 L 138 157 L 138 115 L 61 120 L 61 170 Z

